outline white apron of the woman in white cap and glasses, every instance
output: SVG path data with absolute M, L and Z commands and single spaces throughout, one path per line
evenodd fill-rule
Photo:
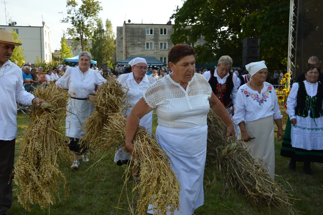
M 132 108 L 128 113 L 130 113 Z M 139 122 L 139 125 L 146 128 L 149 133 L 152 133 L 152 111 L 144 115 Z M 114 155 L 114 162 L 118 162 L 119 160 L 129 160 L 131 155 L 126 152 L 123 148 L 120 148 Z

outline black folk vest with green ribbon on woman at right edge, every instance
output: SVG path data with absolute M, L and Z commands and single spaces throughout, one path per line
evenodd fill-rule
M 323 84 L 318 83 L 318 91 L 313 97 L 310 97 L 307 94 L 304 81 L 298 82 L 298 85 L 295 115 L 307 117 L 308 111 L 310 111 L 309 116 L 311 118 L 318 118 L 320 116 L 323 116 Z

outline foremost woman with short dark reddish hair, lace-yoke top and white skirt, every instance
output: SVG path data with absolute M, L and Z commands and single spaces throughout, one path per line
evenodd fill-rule
M 141 118 L 156 110 L 158 144 L 168 156 L 181 185 L 180 209 L 175 215 L 192 215 L 204 203 L 203 175 L 206 158 L 206 117 L 210 108 L 227 124 L 227 136 L 235 136 L 233 122 L 210 84 L 195 70 L 195 51 L 178 44 L 168 54 L 172 73 L 153 83 L 133 107 L 126 123 L 126 146 L 132 143 Z M 153 213 L 151 206 L 148 213 Z

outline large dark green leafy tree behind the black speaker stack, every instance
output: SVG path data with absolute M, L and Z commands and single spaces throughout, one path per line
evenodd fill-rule
M 246 37 L 261 39 L 260 59 L 269 68 L 285 68 L 288 43 L 288 0 L 186 0 L 177 7 L 173 44 L 196 43 L 204 36 L 206 44 L 196 46 L 199 64 L 229 55 L 242 61 L 242 41 Z M 189 25 L 192 25 L 191 27 Z

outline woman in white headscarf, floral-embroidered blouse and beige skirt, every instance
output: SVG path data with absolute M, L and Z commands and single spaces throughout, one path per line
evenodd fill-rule
M 274 87 L 265 82 L 265 61 L 250 63 L 246 69 L 251 81 L 239 87 L 233 116 L 234 123 L 239 125 L 238 139 L 245 141 L 252 156 L 264 161 L 264 168 L 275 179 L 273 120 L 278 127 L 278 141 L 281 141 L 284 136 L 281 122 L 283 116 Z

